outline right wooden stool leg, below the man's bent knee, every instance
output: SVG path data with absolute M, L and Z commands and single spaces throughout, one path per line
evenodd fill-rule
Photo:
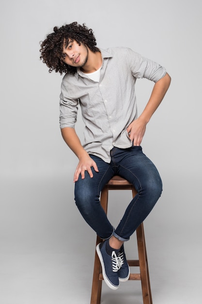
M 147 262 L 147 252 L 144 237 L 144 227 L 143 223 L 136 230 L 137 241 L 138 241 L 138 253 L 140 261 L 140 276 L 141 276 L 141 287 L 142 287 L 142 297 L 143 304 L 152 304 L 152 293 L 149 280 L 149 269 Z

